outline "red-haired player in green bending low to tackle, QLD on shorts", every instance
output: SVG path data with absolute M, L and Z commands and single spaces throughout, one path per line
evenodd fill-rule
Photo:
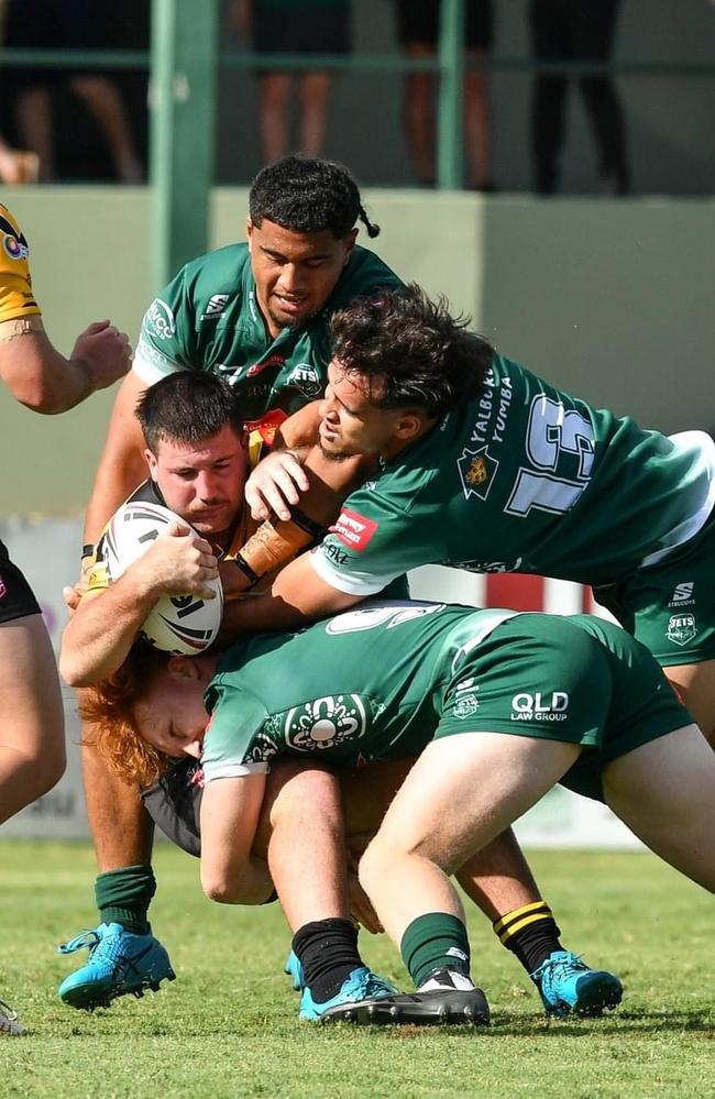
M 449 876 L 559 781 L 602 788 L 652 850 L 715 891 L 712 750 L 645 646 L 593 616 L 370 601 L 222 656 L 139 658 L 105 715 L 128 758 L 138 737 L 200 755 L 201 881 L 233 903 L 268 888 L 251 849 L 274 761 L 418 755 L 360 864 L 418 997 L 336 1003 L 331 1019 L 389 1022 L 411 1005 L 433 1021 L 430 997 L 446 1014 L 481 997 Z M 304 961 L 299 936 L 294 950 Z

